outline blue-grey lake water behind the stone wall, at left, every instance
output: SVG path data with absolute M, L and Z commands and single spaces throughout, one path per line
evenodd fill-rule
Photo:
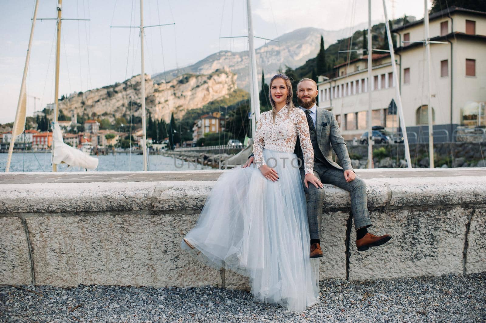
M 0 172 L 5 172 L 7 164 L 7 153 L 0 153 Z M 142 155 L 106 155 L 96 156 L 98 158 L 98 172 L 115 171 L 143 171 Z M 201 170 L 212 169 L 209 166 L 196 165 L 192 162 L 182 161 L 172 157 L 161 155 L 148 156 L 149 171 L 178 171 L 178 170 Z M 84 171 L 79 167 L 68 167 L 66 164 L 57 165 L 59 172 L 79 172 Z M 14 153 L 10 163 L 10 172 L 52 172 L 51 153 Z

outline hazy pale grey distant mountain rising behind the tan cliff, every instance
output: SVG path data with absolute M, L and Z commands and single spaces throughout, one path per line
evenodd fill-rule
M 352 30 L 362 30 L 367 23 L 356 25 Z M 338 39 L 350 35 L 351 29 L 326 31 L 324 29 L 307 27 L 285 33 L 277 38 L 278 43 L 269 42 L 256 49 L 257 73 L 265 71 L 268 79 L 278 70 L 285 70 L 286 66 L 296 68 L 307 60 L 315 57 L 319 51 L 321 35 L 324 36 L 325 47 L 334 44 Z M 166 73 L 153 75 L 155 81 L 171 80 L 181 74 L 209 74 L 218 68 L 227 68 L 238 75 L 239 88 L 248 89 L 248 51 L 232 52 L 222 50 L 209 55 L 199 62 L 178 69 L 169 70 Z M 260 78 L 259 78 L 260 80 Z

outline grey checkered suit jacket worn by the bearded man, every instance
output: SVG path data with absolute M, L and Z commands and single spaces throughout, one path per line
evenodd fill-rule
M 351 166 L 351 160 L 349 159 L 349 154 L 347 153 L 347 145 L 343 139 L 343 136 L 341 136 L 341 130 L 339 129 L 339 124 L 337 123 L 334 113 L 326 109 L 317 107 L 315 117 L 315 130 L 319 149 L 326 158 L 326 161 L 328 161 L 331 166 L 337 169 L 350 169 L 354 172 L 354 169 Z M 336 156 L 339 159 L 342 167 L 332 161 L 331 146 L 332 149 L 334 149 L 334 152 L 336 153 Z M 298 158 L 303 159 L 302 149 L 300 147 L 300 142 L 298 138 L 297 143 L 295 144 L 294 153 L 295 155 L 297 155 Z

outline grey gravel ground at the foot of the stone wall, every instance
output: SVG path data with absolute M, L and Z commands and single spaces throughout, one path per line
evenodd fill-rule
M 0 286 L 0 322 L 486 322 L 486 273 L 325 280 L 299 313 L 210 286 Z

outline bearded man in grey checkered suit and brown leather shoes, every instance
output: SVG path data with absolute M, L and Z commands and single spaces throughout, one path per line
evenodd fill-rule
M 366 202 L 366 184 L 356 177 L 347 153 L 347 146 L 341 136 L 339 125 L 334 114 L 315 104 L 317 97 L 317 84 L 311 79 L 302 79 L 297 84 L 297 101 L 300 109 L 307 116 L 312 147 L 314 149 L 314 175 L 322 182 L 336 185 L 345 189 L 351 195 L 351 211 L 353 213 L 354 227 L 356 229 L 356 247 L 358 251 L 368 250 L 388 242 L 392 237 L 388 234 L 375 236 L 367 231 L 371 226 Z M 332 161 L 332 149 L 336 153 L 341 166 Z M 299 139 L 295 144 L 295 155 L 303 161 L 302 149 Z M 253 154 L 243 167 L 253 162 Z M 301 163 L 300 175 L 304 182 L 304 166 Z M 304 183 L 304 190 L 309 195 L 307 203 L 307 217 L 311 234 L 311 258 L 323 257 L 320 247 L 319 228 L 321 227 L 324 190 L 314 185 Z

